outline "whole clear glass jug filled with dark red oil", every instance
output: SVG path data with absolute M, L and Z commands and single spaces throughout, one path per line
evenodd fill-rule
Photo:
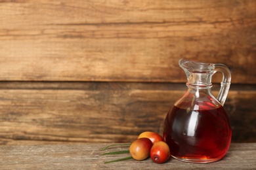
M 223 64 L 181 59 L 188 90 L 175 102 L 163 123 L 163 139 L 171 156 L 181 161 L 208 163 L 218 161 L 228 151 L 232 130 L 223 108 L 231 74 Z M 211 78 L 223 73 L 217 99 L 211 93 Z

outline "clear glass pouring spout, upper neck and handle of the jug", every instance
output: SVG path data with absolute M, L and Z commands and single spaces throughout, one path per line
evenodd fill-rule
M 231 82 L 231 73 L 226 65 L 221 63 L 201 63 L 198 61 L 180 59 L 179 66 L 186 73 L 186 78 L 188 80 L 186 84 L 188 86 L 198 86 L 200 88 L 211 87 L 212 76 L 217 71 L 223 73 L 221 90 L 219 91 L 217 100 L 221 103 L 221 105 L 224 105 Z

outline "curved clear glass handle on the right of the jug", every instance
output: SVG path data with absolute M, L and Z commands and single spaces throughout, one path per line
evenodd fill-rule
M 223 64 L 213 64 L 215 66 L 215 69 L 213 71 L 213 74 L 216 73 L 217 71 L 220 71 L 223 73 L 223 80 L 221 82 L 221 89 L 219 90 L 219 95 L 217 97 L 217 100 L 221 103 L 221 105 L 224 105 L 226 96 L 228 95 L 228 90 L 230 87 L 230 82 L 231 82 L 231 73 L 228 67 Z

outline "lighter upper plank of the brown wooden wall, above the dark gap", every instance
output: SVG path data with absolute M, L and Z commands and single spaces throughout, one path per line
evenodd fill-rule
M 255 84 L 255 5 L 1 1 L 0 80 L 184 82 L 187 58 Z

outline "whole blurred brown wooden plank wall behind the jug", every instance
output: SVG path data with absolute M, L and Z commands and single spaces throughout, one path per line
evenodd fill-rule
M 229 67 L 232 142 L 256 142 L 255 9 L 255 0 L 0 0 L 0 144 L 161 134 L 186 90 L 181 58 Z

